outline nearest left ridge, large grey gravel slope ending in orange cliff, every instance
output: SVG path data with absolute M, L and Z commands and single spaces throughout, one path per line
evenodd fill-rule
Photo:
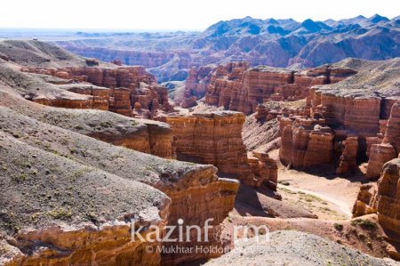
M 40 204 L 40 208 L 37 208 L 36 212 L 40 210 L 40 218 L 47 219 L 47 216 L 52 217 L 47 214 L 47 211 L 52 210 L 53 204 L 55 206 L 59 204 L 60 206 L 65 206 L 63 198 L 67 198 L 68 206 L 71 206 L 74 214 L 72 219 L 65 219 L 67 221 L 66 224 L 71 225 L 67 228 L 67 233 L 65 234 L 63 227 L 58 226 L 62 225 L 59 221 L 55 223 L 55 230 L 51 230 L 52 228 L 50 230 L 42 230 L 36 234 L 35 238 L 20 238 L 19 246 L 33 245 L 33 247 L 38 247 L 38 253 L 44 252 L 43 261 L 34 261 L 28 265 L 48 262 L 46 259 L 49 259 L 50 262 L 52 262 L 52 259 L 55 260 L 54 262 L 58 262 L 57 260 L 65 256 L 67 256 L 65 264 L 76 262 L 77 265 L 90 265 L 91 262 L 98 262 L 97 259 L 102 259 L 100 262 L 107 263 L 109 257 L 109 262 L 115 262 L 110 263 L 111 265 L 129 265 L 129 263 L 133 263 L 133 265 L 159 265 L 160 254 L 158 252 L 148 254 L 144 250 L 147 243 L 131 242 L 129 225 L 132 217 L 138 218 L 138 226 L 145 225 L 145 229 L 140 231 L 142 234 L 149 233 L 146 225 L 151 223 L 160 224 L 160 226 L 164 225 L 165 222 L 168 222 L 169 225 L 177 225 L 178 219 L 183 219 L 185 225 L 203 227 L 204 222 L 212 218 L 210 225 L 213 228 L 209 234 L 210 242 L 204 243 L 204 245 L 230 245 L 229 239 L 223 243 L 219 242 L 218 240 L 222 241 L 223 239 L 219 239 L 217 234 L 213 234 L 213 229 L 217 228 L 220 222 L 227 217 L 228 212 L 232 210 L 238 189 L 238 181 L 219 178 L 216 174 L 216 167 L 166 160 L 131 149 L 123 149 L 82 134 L 61 129 L 58 126 L 39 122 L 31 117 L 19 115 L 17 112 L 4 107 L 0 107 L 0 109 L 0 126 L 2 128 L 7 127 L 10 132 L 20 135 L 42 130 L 46 132 L 45 136 L 44 134 L 35 134 L 31 138 L 19 141 L 13 138 L 11 134 L 9 134 L 9 137 L 4 137 L 4 134 L 8 133 L 0 131 L 1 146 L 4 147 L 4 143 L 7 143 L 7 149 L 0 149 L 1 157 L 7 157 L 6 160 L 2 161 L 2 165 L 7 169 L 6 171 L 10 171 L 8 173 L 0 172 L 0 176 L 2 181 L 7 180 L 6 184 L 14 184 L 0 187 L 0 194 L 10 198 L 15 196 L 24 199 L 20 203 L 9 202 L 9 204 L 5 205 L 4 197 L 2 197 L 2 206 L 6 207 L 7 211 L 12 210 L 15 206 L 21 206 L 21 208 L 17 208 L 20 212 L 18 215 L 12 214 L 12 222 L 17 221 L 17 219 L 20 222 L 23 217 L 23 219 L 28 219 L 29 225 L 32 224 L 43 228 L 43 223 L 36 223 L 31 219 L 31 206 L 37 207 Z M 70 113 L 73 114 L 75 111 L 72 110 Z M 118 116 L 113 115 L 112 117 Z M 121 118 L 123 121 L 125 119 L 127 118 Z M 39 141 L 43 140 L 42 138 L 52 140 L 52 152 L 41 150 L 44 149 L 43 141 Z M 65 145 L 66 143 L 68 145 Z M 9 150 L 10 147 L 14 146 L 14 149 Z M 15 157 L 20 158 L 18 151 L 26 151 L 27 147 L 29 152 L 28 154 L 23 153 L 25 154 L 23 159 L 30 159 L 32 164 L 39 160 L 35 165 L 43 165 L 48 161 L 54 162 L 54 160 L 57 160 L 54 165 L 66 167 L 68 171 L 60 169 L 61 166 L 52 167 L 51 163 L 49 165 L 50 171 L 54 173 L 54 176 L 57 176 L 55 181 L 49 184 L 47 178 L 41 178 L 46 176 L 44 172 L 46 172 L 47 167 L 39 167 L 38 171 L 40 172 L 37 173 L 35 180 L 29 178 L 29 181 L 20 182 L 19 187 L 17 187 L 11 174 L 12 171 L 15 171 L 15 167 L 12 165 L 14 165 Z M 72 147 L 76 147 L 80 151 L 72 151 Z M 57 154 L 68 154 L 68 158 Z M 23 168 L 26 167 L 25 165 L 18 165 Z M 20 173 L 20 170 L 18 172 Z M 78 181 L 74 181 L 73 177 Z M 30 181 L 35 182 L 35 188 L 29 188 L 31 187 Z M 86 181 L 89 181 L 90 185 Z M 143 183 L 146 183 L 146 185 Z M 117 186 L 112 186 L 113 184 Z M 154 188 L 150 188 L 148 185 Z M 20 194 L 21 188 L 26 189 L 28 193 Z M 53 194 L 54 188 L 60 189 L 60 191 L 72 191 L 72 193 L 68 192 L 66 193 L 67 196 L 57 197 L 59 194 Z M 16 191 L 16 193 L 8 194 L 11 191 Z M 117 192 L 110 193 L 115 191 Z M 45 201 L 38 201 L 37 198 L 43 197 L 43 195 L 52 195 L 52 198 L 45 197 Z M 75 195 L 78 196 L 75 197 Z M 26 200 L 27 198 L 29 200 Z M 110 201 L 111 199 L 112 201 Z M 51 203 L 49 204 L 50 201 Z M 32 204 L 34 202 L 35 204 Z M 123 205 L 119 205 L 120 202 Z M 90 205 L 86 209 L 85 206 L 88 206 L 88 203 Z M 22 207 L 26 208 L 25 210 L 28 210 L 28 212 L 25 210 L 21 212 Z M 167 209 L 166 207 L 169 208 Z M 116 210 L 116 208 L 118 209 Z M 82 210 L 82 213 L 77 213 L 77 210 Z M 90 213 L 92 210 L 95 214 Z M 15 211 L 12 210 L 12 213 Z M 42 212 L 44 213 L 43 215 Z M 117 213 L 114 215 L 113 213 L 115 212 Z M 110 216 L 111 214 L 109 213 L 113 215 Z M 6 214 L 11 214 L 11 211 Z M 3 215 L 4 211 L 2 210 Z M 58 213 L 54 215 L 58 215 Z M 97 219 L 94 220 L 96 224 L 91 222 L 92 215 L 96 215 L 94 216 Z M 110 218 L 103 222 L 103 215 L 107 215 L 106 217 Z M 89 222 L 92 226 L 89 227 L 83 224 L 82 227 L 78 227 L 76 230 L 72 226 L 76 225 L 77 219 Z M 54 220 L 57 221 L 58 219 Z M 7 220 L 0 220 L 2 229 L 4 229 L 4 224 L 6 223 Z M 111 230 L 108 230 L 108 226 L 112 227 Z M 83 230 L 79 230 L 80 228 Z M 46 227 L 45 229 L 48 228 Z M 73 236 L 76 236 L 77 240 L 82 239 L 82 243 L 68 241 Z M 83 238 L 78 238 L 79 236 Z M 185 231 L 183 231 L 183 236 L 186 236 Z M 24 239 L 35 241 L 26 243 Z M 45 246 L 44 244 L 46 243 L 41 242 L 41 240 L 49 241 L 47 242 L 49 246 Z M 196 239 L 191 242 L 184 241 L 172 244 L 182 248 L 199 245 Z M 159 243 L 155 242 L 151 245 L 159 245 Z M 165 243 L 165 245 L 168 246 L 168 243 Z M 36 249 L 29 248 L 28 250 L 28 257 L 36 259 L 36 255 L 31 256 L 31 254 L 35 254 Z M 0 259 L 2 254 L 0 254 Z M 71 257 L 69 257 L 69 254 L 71 254 Z M 96 255 L 93 257 L 91 254 Z M 196 252 L 196 254 L 165 253 L 163 254 L 163 262 L 177 264 L 196 259 L 207 259 L 215 255 L 213 252 L 212 254 L 205 252 Z M 143 262 L 141 261 L 142 258 Z M 0 264 L 2 263 L 0 262 Z

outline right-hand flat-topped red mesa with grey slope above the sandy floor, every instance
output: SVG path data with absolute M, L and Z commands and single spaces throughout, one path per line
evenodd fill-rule
M 324 119 L 319 125 L 332 130 L 334 156 L 328 163 L 337 164 L 337 173 L 346 173 L 356 168 L 356 163 L 370 158 L 369 176 L 379 175 L 381 165 L 396 157 L 390 141 L 382 142 L 382 133 L 396 135 L 396 106 L 399 99 L 400 60 L 366 61 L 348 59 L 333 64 L 335 69 L 355 69 L 356 75 L 333 85 L 316 85 L 309 90 L 307 106 L 303 116 L 279 118 L 282 130 L 281 159 L 285 165 L 296 161 L 285 149 L 304 150 L 309 137 L 304 136 L 303 127 L 290 128 L 293 121 L 301 119 Z M 394 109 L 392 109 L 392 107 Z M 390 109 L 393 123 L 388 131 Z M 311 117 L 311 118 L 309 118 Z M 293 124 L 294 125 L 294 124 Z M 287 128 L 286 128 L 287 127 Z M 395 137 L 396 138 L 396 137 Z M 386 139 L 389 139 L 387 137 Z M 392 142 L 396 141 L 392 137 Z M 296 146 L 297 145 L 297 146 Z M 301 154 L 301 152 L 300 152 Z M 337 162 L 335 161 L 337 160 Z M 295 167 L 300 167 L 294 163 Z

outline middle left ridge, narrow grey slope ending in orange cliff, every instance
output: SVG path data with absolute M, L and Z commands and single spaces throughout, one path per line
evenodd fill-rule
M 0 105 L 47 124 L 158 157 L 174 158 L 171 127 L 148 119 L 87 109 L 57 109 L 25 101 L 0 88 Z

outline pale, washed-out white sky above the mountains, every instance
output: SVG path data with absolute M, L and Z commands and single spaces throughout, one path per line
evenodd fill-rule
M 219 20 L 346 19 L 400 15 L 400 0 L 11 0 L 1 3 L 0 28 L 202 30 Z

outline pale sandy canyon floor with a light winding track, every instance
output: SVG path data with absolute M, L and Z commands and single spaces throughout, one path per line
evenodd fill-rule
M 277 158 L 278 150 L 270 152 L 269 155 Z M 361 168 L 353 176 L 321 171 L 305 173 L 288 170 L 283 165 L 279 165 L 278 168 L 278 192 L 283 200 L 306 206 L 323 220 L 349 219 L 360 186 L 368 182 Z M 313 197 L 316 198 L 312 200 Z

